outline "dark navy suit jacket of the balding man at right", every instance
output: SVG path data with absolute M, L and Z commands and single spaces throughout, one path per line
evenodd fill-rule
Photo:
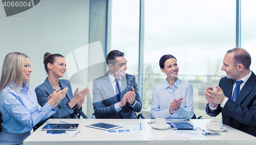
M 220 88 L 228 98 L 224 108 L 218 105 L 215 111 L 209 109 L 209 103 L 206 105 L 206 113 L 211 117 L 216 117 L 222 112 L 222 122 L 225 125 L 236 128 L 243 132 L 256 136 L 256 76 L 252 72 L 249 79 L 240 91 L 236 102 L 231 99 L 233 79 L 227 77 L 221 78 Z

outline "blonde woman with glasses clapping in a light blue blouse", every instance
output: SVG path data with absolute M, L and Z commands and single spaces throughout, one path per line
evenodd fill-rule
M 0 144 L 23 144 L 32 127 L 55 113 L 55 106 L 65 97 L 67 89 L 54 91 L 38 109 L 35 91 L 29 85 L 32 72 L 29 57 L 24 53 L 6 55 L 0 82 L 2 127 Z

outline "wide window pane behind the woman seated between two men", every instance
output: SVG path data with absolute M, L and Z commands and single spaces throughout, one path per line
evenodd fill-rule
M 173 54 L 179 66 L 178 77 L 193 85 L 194 108 L 198 108 L 195 114 L 210 118 L 205 111 L 197 111 L 207 103 L 201 90 L 218 85 L 225 76 L 222 60 L 225 52 L 235 47 L 235 30 L 235 1 L 147 0 L 144 82 L 148 85 L 143 87 L 143 108 L 151 109 L 154 85 L 166 78 L 159 67 L 160 57 Z

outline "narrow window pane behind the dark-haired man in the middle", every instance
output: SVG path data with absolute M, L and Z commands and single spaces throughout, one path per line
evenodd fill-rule
M 124 52 L 127 61 L 126 73 L 138 78 L 139 57 L 139 1 L 118 1 L 112 3 L 111 50 Z

